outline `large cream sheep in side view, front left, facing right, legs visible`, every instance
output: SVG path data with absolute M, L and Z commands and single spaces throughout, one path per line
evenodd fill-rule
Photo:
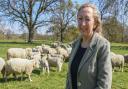
M 30 75 L 34 68 L 39 68 L 38 63 L 35 60 L 22 59 L 22 58 L 10 58 L 4 68 L 4 79 L 7 81 L 7 76 L 13 74 L 16 79 L 16 74 L 22 74 L 21 80 L 23 79 L 24 73 L 28 75 L 29 81 L 32 81 Z

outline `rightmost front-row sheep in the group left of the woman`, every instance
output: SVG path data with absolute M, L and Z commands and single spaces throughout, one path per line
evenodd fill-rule
M 55 56 L 51 56 L 50 54 L 48 54 L 48 63 L 49 66 L 51 67 L 57 67 L 58 71 L 61 71 L 62 65 L 63 65 L 63 59 L 61 57 L 55 57 Z

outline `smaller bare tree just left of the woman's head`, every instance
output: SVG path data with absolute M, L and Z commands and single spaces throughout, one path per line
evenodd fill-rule
M 51 28 L 49 32 L 53 32 L 60 37 L 63 42 L 64 32 L 68 26 L 75 22 L 77 5 L 74 5 L 71 0 L 60 0 L 57 7 L 52 9 Z

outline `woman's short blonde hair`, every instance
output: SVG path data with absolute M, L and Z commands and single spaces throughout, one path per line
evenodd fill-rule
M 95 21 L 95 27 L 93 28 L 93 30 L 99 34 L 102 34 L 102 22 L 101 22 L 101 17 L 100 17 L 98 9 L 96 8 L 94 4 L 85 3 L 82 6 L 80 6 L 80 8 L 78 9 L 78 13 L 80 12 L 80 10 L 82 10 L 85 7 L 91 7 L 93 9 L 93 16 L 94 16 L 94 21 Z

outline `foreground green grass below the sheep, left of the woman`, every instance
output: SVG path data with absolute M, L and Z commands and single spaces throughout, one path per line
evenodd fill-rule
M 0 83 L 0 89 L 64 89 L 66 70 L 67 64 L 64 64 L 62 72 L 56 72 L 54 69 L 50 71 L 49 76 L 40 74 L 39 70 L 36 70 L 32 73 L 32 82 L 29 82 L 28 78 L 20 81 L 20 78 L 14 80 L 9 76 L 11 79 L 7 83 Z

